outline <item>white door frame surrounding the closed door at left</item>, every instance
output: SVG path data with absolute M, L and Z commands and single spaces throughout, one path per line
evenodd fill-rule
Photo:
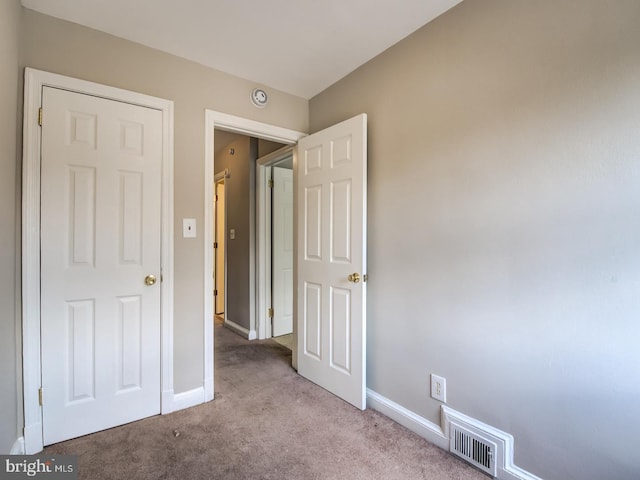
M 44 86 L 153 108 L 162 112 L 161 413 L 173 393 L 173 102 L 31 68 L 25 69 L 22 170 L 22 352 L 25 452 L 43 449 L 40 357 L 40 127 Z M 46 112 L 44 113 L 46 116 Z M 44 120 L 46 121 L 46 119 Z M 46 393 L 45 393 L 46 399 Z M 46 401 L 46 400 L 45 400 Z

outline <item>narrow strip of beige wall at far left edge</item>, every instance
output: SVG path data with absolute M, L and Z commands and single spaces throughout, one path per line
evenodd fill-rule
M 16 252 L 19 235 L 16 217 L 19 214 L 20 181 L 18 169 L 19 117 L 18 102 L 22 98 L 19 83 L 19 0 L 0 2 L 0 453 L 9 453 L 20 436 L 21 407 L 17 391 L 20 351 L 16 335 L 17 320 Z

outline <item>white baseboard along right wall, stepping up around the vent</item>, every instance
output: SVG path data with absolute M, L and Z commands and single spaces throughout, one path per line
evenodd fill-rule
M 504 447 L 504 459 L 501 459 L 502 461 L 500 465 L 498 465 L 498 476 L 496 477 L 498 480 L 542 480 L 540 477 L 523 470 L 513 463 L 513 436 L 445 405 L 442 406 L 441 425 L 430 422 L 426 418 L 421 417 L 417 413 L 404 408 L 402 405 L 395 403 L 393 400 L 389 400 L 371 389 L 367 389 L 367 406 L 379 411 L 403 427 L 417 433 L 425 440 L 447 451 L 449 451 L 448 425 L 449 419 L 451 418 L 488 431 L 497 437 Z

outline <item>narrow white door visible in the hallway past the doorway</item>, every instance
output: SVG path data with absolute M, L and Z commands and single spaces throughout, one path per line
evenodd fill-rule
M 273 167 L 273 336 L 293 332 L 293 170 Z

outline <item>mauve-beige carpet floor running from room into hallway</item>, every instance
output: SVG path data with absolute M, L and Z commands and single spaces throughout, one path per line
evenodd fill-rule
M 215 400 L 49 446 L 79 478 L 486 480 L 374 411 L 297 375 L 291 351 L 215 327 Z

